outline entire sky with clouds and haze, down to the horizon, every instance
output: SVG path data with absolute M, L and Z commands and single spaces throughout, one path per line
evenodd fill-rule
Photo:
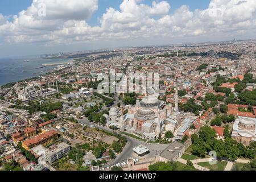
M 13 0 L 1 7 L 0 57 L 253 39 L 256 24 L 251 0 Z

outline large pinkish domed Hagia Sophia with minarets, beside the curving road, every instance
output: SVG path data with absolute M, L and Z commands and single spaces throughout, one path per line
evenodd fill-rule
M 146 94 L 142 101 L 137 99 L 136 105 L 125 106 L 128 110 L 125 115 L 121 102 L 119 109 L 110 109 L 107 126 L 115 126 L 121 131 L 137 134 L 151 141 L 163 137 L 166 131 L 172 131 L 176 134 L 175 139 L 181 139 L 196 117 L 187 116 L 179 111 L 177 90 L 174 97 L 173 108 L 171 104 L 159 101 L 155 94 Z

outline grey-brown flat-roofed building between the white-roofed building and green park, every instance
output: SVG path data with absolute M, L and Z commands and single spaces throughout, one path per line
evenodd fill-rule
M 185 145 L 180 142 L 172 142 L 160 153 L 160 162 L 177 162 L 185 152 Z

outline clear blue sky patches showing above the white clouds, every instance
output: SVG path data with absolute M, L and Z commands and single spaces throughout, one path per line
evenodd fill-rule
M 75 0 L 71 0 L 75 1 Z M 86 1 L 86 0 L 84 0 Z M 206 9 L 209 6 L 210 0 L 166 0 L 171 5 L 170 13 L 174 13 L 182 5 L 188 5 L 191 11 L 196 9 Z M 30 6 L 32 0 L 1 0 L 0 1 L 0 13 L 3 15 L 15 15 L 22 10 L 26 10 Z M 91 26 L 97 26 L 99 24 L 98 18 L 105 13 L 106 9 L 113 7 L 119 10 L 119 5 L 122 0 L 98 0 L 98 10 L 93 15 L 92 19 L 88 21 Z M 144 0 L 143 3 L 151 5 L 152 0 Z

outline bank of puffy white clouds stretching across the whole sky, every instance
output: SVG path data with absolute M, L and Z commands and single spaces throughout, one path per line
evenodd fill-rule
M 46 16 L 39 15 L 46 7 Z M 212 0 L 205 10 L 184 5 L 170 14 L 166 1 L 123 0 L 100 18 L 99 26 L 87 22 L 97 11 L 97 0 L 34 0 L 27 10 L 9 21 L 0 14 L 0 38 L 7 42 L 69 44 L 98 40 L 186 38 L 256 33 L 256 1 Z M 154 43 L 154 42 L 152 42 Z

